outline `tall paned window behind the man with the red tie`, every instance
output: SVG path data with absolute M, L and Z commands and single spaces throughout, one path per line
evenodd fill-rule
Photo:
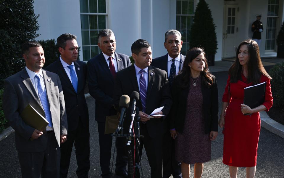
M 83 60 L 100 53 L 98 33 L 106 28 L 106 0 L 80 0 Z

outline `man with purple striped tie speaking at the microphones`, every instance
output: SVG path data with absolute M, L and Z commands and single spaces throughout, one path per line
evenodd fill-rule
M 163 120 L 172 105 L 167 74 L 164 70 L 150 66 L 152 50 L 151 45 L 146 40 L 135 41 L 131 46 L 131 52 L 135 63 L 117 73 L 114 102 L 118 105 L 120 96 L 123 94 L 130 96 L 133 91 L 140 93 L 136 106 L 140 109 L 139 115 L 143 123 L 140 130 L 144 137 L 140 139 L 139 155 L 141 157 L 144 146 L 151 167 L 151 177 L 161 178 Z M 164 107 L 162 111 L 156 114 L 165 115 L 164 117 L 148 118 L 154 109 L 162 106 Z M 130 108 L 124 122 L 125 128 L 130 125 Z M 135 170 L 135 177 L 139 177 L 138 169 Z

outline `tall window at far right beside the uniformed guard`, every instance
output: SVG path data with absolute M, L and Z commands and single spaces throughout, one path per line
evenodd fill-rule
M 279 0 L 269 0 L 267 10 L 265 50 L 275 50 Z

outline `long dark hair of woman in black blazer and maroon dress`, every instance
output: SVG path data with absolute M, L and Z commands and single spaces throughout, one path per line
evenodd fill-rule
M 179 74 L 179 77 L 180 77 L 179 85 L 182 88 L 187 88 L 188 85 L 190 84 L 191 71 L 190 71 L 190 67 L 188 66 L 188 64 L 201 53 L 204 54 L 204 57 L 206 56 L 202 48 L 192 48 L 188 50 L 188 52 L 186 53 L 185 61 L 183 63 L 183 68 Z M 201 80 L 205 86 L 210 87 L 213 84 L 213 78 L 212 78 L 212 75 L 209 73 L 206 57 L 205 57 L 204 62 L 205 62 L 205 65 L 204 65 L 204 70 L 201 72 Z

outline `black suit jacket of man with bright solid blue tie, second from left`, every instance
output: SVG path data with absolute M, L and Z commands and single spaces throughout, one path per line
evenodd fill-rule
M 78 77 L 77 93 L 75 92 L 60 59 L 46 67 L 46 70 L 58 74 L 61 80 L 69 131 L 77 129 L 79 118 L 84 126 L 89 125 L 89 112 L 84 94 L 87 80 L 87 64 L 83 61 L 77 60 L 74 62 L 74 65 Z

